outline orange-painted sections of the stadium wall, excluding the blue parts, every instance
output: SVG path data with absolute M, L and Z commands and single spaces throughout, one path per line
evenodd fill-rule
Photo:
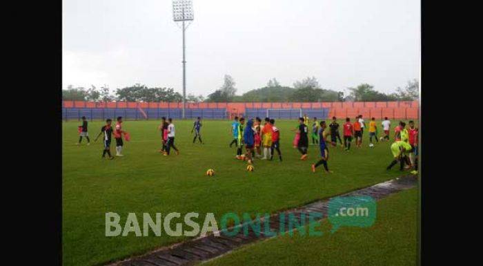
M 182 108 L 177 102 L 83 102 L 63 101 L 63 108 Z M 419 102 L 199 102 L 186 108 L 226 108 L 230 114 L 245 113 L 246 108 L 329 108 L 329 117 L 383 117 L 417 119 Z

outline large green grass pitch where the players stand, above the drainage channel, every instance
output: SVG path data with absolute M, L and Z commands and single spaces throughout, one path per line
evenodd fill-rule
M 63 265 L 99 265 L 184 240 L 166 234 L 108 238 L 104 233 L 106 212 L 119 213 L 124 219 L 129 212 L 142 216 L 144 212 L 196 211 L 201 217 L 201 213 L 213 212 L 219 219 L 226 212 L 296 207 L 401 175 L 397 167 L 385 169 L 392 160 L 390 143 L 369 148 L 366 132 L 361 149 L 355 148 L 354 142 L 349 152 L 329 148 L 329 168 L 334 173 L 322 173 L 322 167 L 312 173 L 318 147 L 309 146 L 308 160 L 300 161 L 299 152 L 292 148 L 294 133 L 290 131 L 297 121 L 277 121 L 284 162 L 275 157 L 272 162 L 256 160 L 255 171 L 247 172 L 246 162 L 235 160 L 235 148 L 228 148 L 230 121 L 204 121 L 203 145 L 192 143 L 193 121 L 175 121 L 180 154 L 170 156 L 157 152 L 158 124 L 124 122 L 132 140 L 125 142 L 125 156 L 111 161 L 101 160 L 101 140 L 90 146 L 85 140 L 83 145 L 75 145 L 79 122 L 63 122 Z M 102 125 L 89 123 L 91 141 Z M 114 146 L 112 143 L 113 153 Z M 215 169 L 213 177 L 204 175 L 208 168 Z M 121 220 L 121 225 L 124 222 Z

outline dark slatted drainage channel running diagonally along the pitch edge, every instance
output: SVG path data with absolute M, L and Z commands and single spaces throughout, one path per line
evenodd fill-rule
M 405 175 L 400 178 L 375 184 L 371 187 L 366 187 L 364 189 L 358 189 L 345 193 L 339 196 L 371 196 L 375 200 L 380 200 L 392 193 L 397 193 L 405 189 L 411 189 L 417 184 L 416 175 Z M 301 218 L 302 214 L 306 214 L 306 220 L 308 220 L 308 213 L 319 212 L 323 213 L 323 220 L 327 217 L 328 213 L 328 202 L 331 198 L 325 200 L 319 200 L 312 202 L 310 204 L 304 205 L 302 207 L 297 207 L 295 209 L 289 209 L 286 211 L 281 211 L 275 213 L 270 217 L 270 228 L 278 231 L 280 227 L 279 218 L 280 213 L 285 213 L 287 217 L 290 213 L 297 218 Z M 272 220 L 273 218 L 273 220 Z M 285 221 L 282 220 L 282 224 Z M 232 251 L 237 247 L 247 245 L 250 243 L 255 243 L 258 240 L 263 240 L 271 238 L 274 236 L 265 236 L 263 231 L 260 232 L 259 236 L 255 234 L 254 231 L 248 230 L 248 235 L 244 234 L 243 230 L 239 231 L 239 234 L 235 236 L 205 236 L 203 238 L 195 238 L 184 243 L 173 245 L 172 247 L 161 249 L 159 251 L 152 251 L 149 254 L 138 256 L 135 258 L 129 258 L 128 260 L 113 263 L 110 266 L 181 266 L 181 265 L 194 265 L 201 261 L 210 260 L 217 256 L 226 254 L 228 251 Z

